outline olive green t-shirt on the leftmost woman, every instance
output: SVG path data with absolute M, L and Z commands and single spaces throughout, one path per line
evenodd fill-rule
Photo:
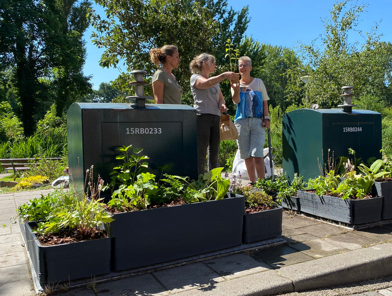
M 152 83 L 156 80 L 163 83 L 163 104 L 181 104 L 182 88 L 175 77 L 173 79 L 172 76 L 159 69 L 152 76 Z

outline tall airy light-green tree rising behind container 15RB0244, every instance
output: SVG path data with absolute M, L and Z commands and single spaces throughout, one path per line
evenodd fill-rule
M 341 87 L 344 85 L 354 86 L 356 94 L 363 92 L 372 73 L 381 67 L 375 56 L 379 45 L 377 23 L 365 36 L 356 29 L 359 14 L 367 5 L 355 4 L 346 9 L 346 4 L 347 0 L 334 4 L 330 19 L 323 21 L 325 34 L 320 35 L 323 51 L 316 45 L 317 39 L 310 45 L 300 45 L 307 64 L 302 72 L 298 71 L 297 83 L 300 83 L 300 75 L 309 74 L 309 83 L 305 85 L 307 93 L 312 101 L 323 107 L 341 103 Z M 358 32 L 366 41 L 363 44 L 358 41 L 349 43 L 348 36 L 352 31 Z

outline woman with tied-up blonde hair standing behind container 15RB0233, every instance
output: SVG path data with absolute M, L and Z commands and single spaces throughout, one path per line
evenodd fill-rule
M 150 50 L 151 61 L 161 69 L 152 76 L 152 91 L 157 104 L 181 104 L 182 88 L 171 73 L 178 68 L 180 56 L 175 45 L 163 45 L 161 48 Z

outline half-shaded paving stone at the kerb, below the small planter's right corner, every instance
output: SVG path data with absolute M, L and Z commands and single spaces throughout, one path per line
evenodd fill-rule
M 274 268 L 279 268 L 282 266 L 305 262 L 313 259 L 312 257 L 301 253 L 293 248 L 290 248 L 287 245 L 279 245 L 278 247 L 260 250 L 258 252 L 254 252 L 253 256 L 271 265 Z

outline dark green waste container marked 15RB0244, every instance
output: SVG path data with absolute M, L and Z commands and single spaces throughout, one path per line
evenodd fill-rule
M 299 173 L 304 180 L 318 177 L 319 164 L 334 156 L 349 156 L 348 148 L 356 157 L 367 161 L 381 157 L 381 114 L 369 110 L 298 109 L 282 118 L 283 171 L 290 180 Z

